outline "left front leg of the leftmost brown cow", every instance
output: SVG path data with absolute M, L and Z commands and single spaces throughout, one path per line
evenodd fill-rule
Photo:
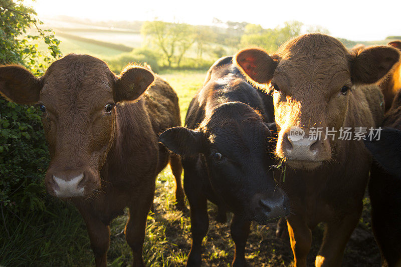
M 78 207 L 78 210 L 86 223 L 91 247 L 95 255 L 96 266 L 107 266 L 107 250 L 110 245 L 110 227 L 82 208 Z

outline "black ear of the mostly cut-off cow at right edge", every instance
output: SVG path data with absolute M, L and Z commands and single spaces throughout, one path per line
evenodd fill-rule
M 377 133 L 377 132 L 376 132 Z M 367 137 L 364 140 L 366 148 L 374 159 L 388 172 L 401 176 L 401 131 L 386 128 L 380 131 L 379 138 Z

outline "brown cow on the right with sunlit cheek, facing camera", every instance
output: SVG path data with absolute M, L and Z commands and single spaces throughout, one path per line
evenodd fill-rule
M 283 188 L 294 212 L 287 223 L 295 266 L 306 266 L 311 229 L 319 222 L 324 222 L 325 232 L 315 264 L 341 264 L 362 210 L 371 156 L 362 140 L 338 139 L 339 131 L 381 123 L 379 88 L 361 85 L 382 79 L 398 59 L 399 51 L 388 46 L 357 55 L 322 34 L 294 38 L 271 56 L 260 49 L 236 55 L 250 81 L 274 90 L 276 155 L 287 165 Z M 305 136 L 292 139 L 292 126 Z M 312 135 L 312 127 L 322 127 L 321 138 Z M 335 131 L 334 138 L 326 127 Z

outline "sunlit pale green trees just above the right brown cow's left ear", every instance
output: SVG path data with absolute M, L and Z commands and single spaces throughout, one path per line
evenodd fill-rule
M 277 50 L 279 46 L 301 33 L 302 23 L 297 21 L 285 22 L 284 27 L 263 29 L 260 25 L 248 24 L 241 37 L 243 47 L 262 47 L 268 52 Z

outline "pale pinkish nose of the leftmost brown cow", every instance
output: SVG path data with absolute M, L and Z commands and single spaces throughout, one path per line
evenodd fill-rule
M 77 176 L 59 178 L 53 175 L 53 189 L 57 197 L 74 197 L 83 196 L 85 185 L 81 183 L 84 179 L 84 174 Z M 81 184 L 80 184 L 81 183 Z

